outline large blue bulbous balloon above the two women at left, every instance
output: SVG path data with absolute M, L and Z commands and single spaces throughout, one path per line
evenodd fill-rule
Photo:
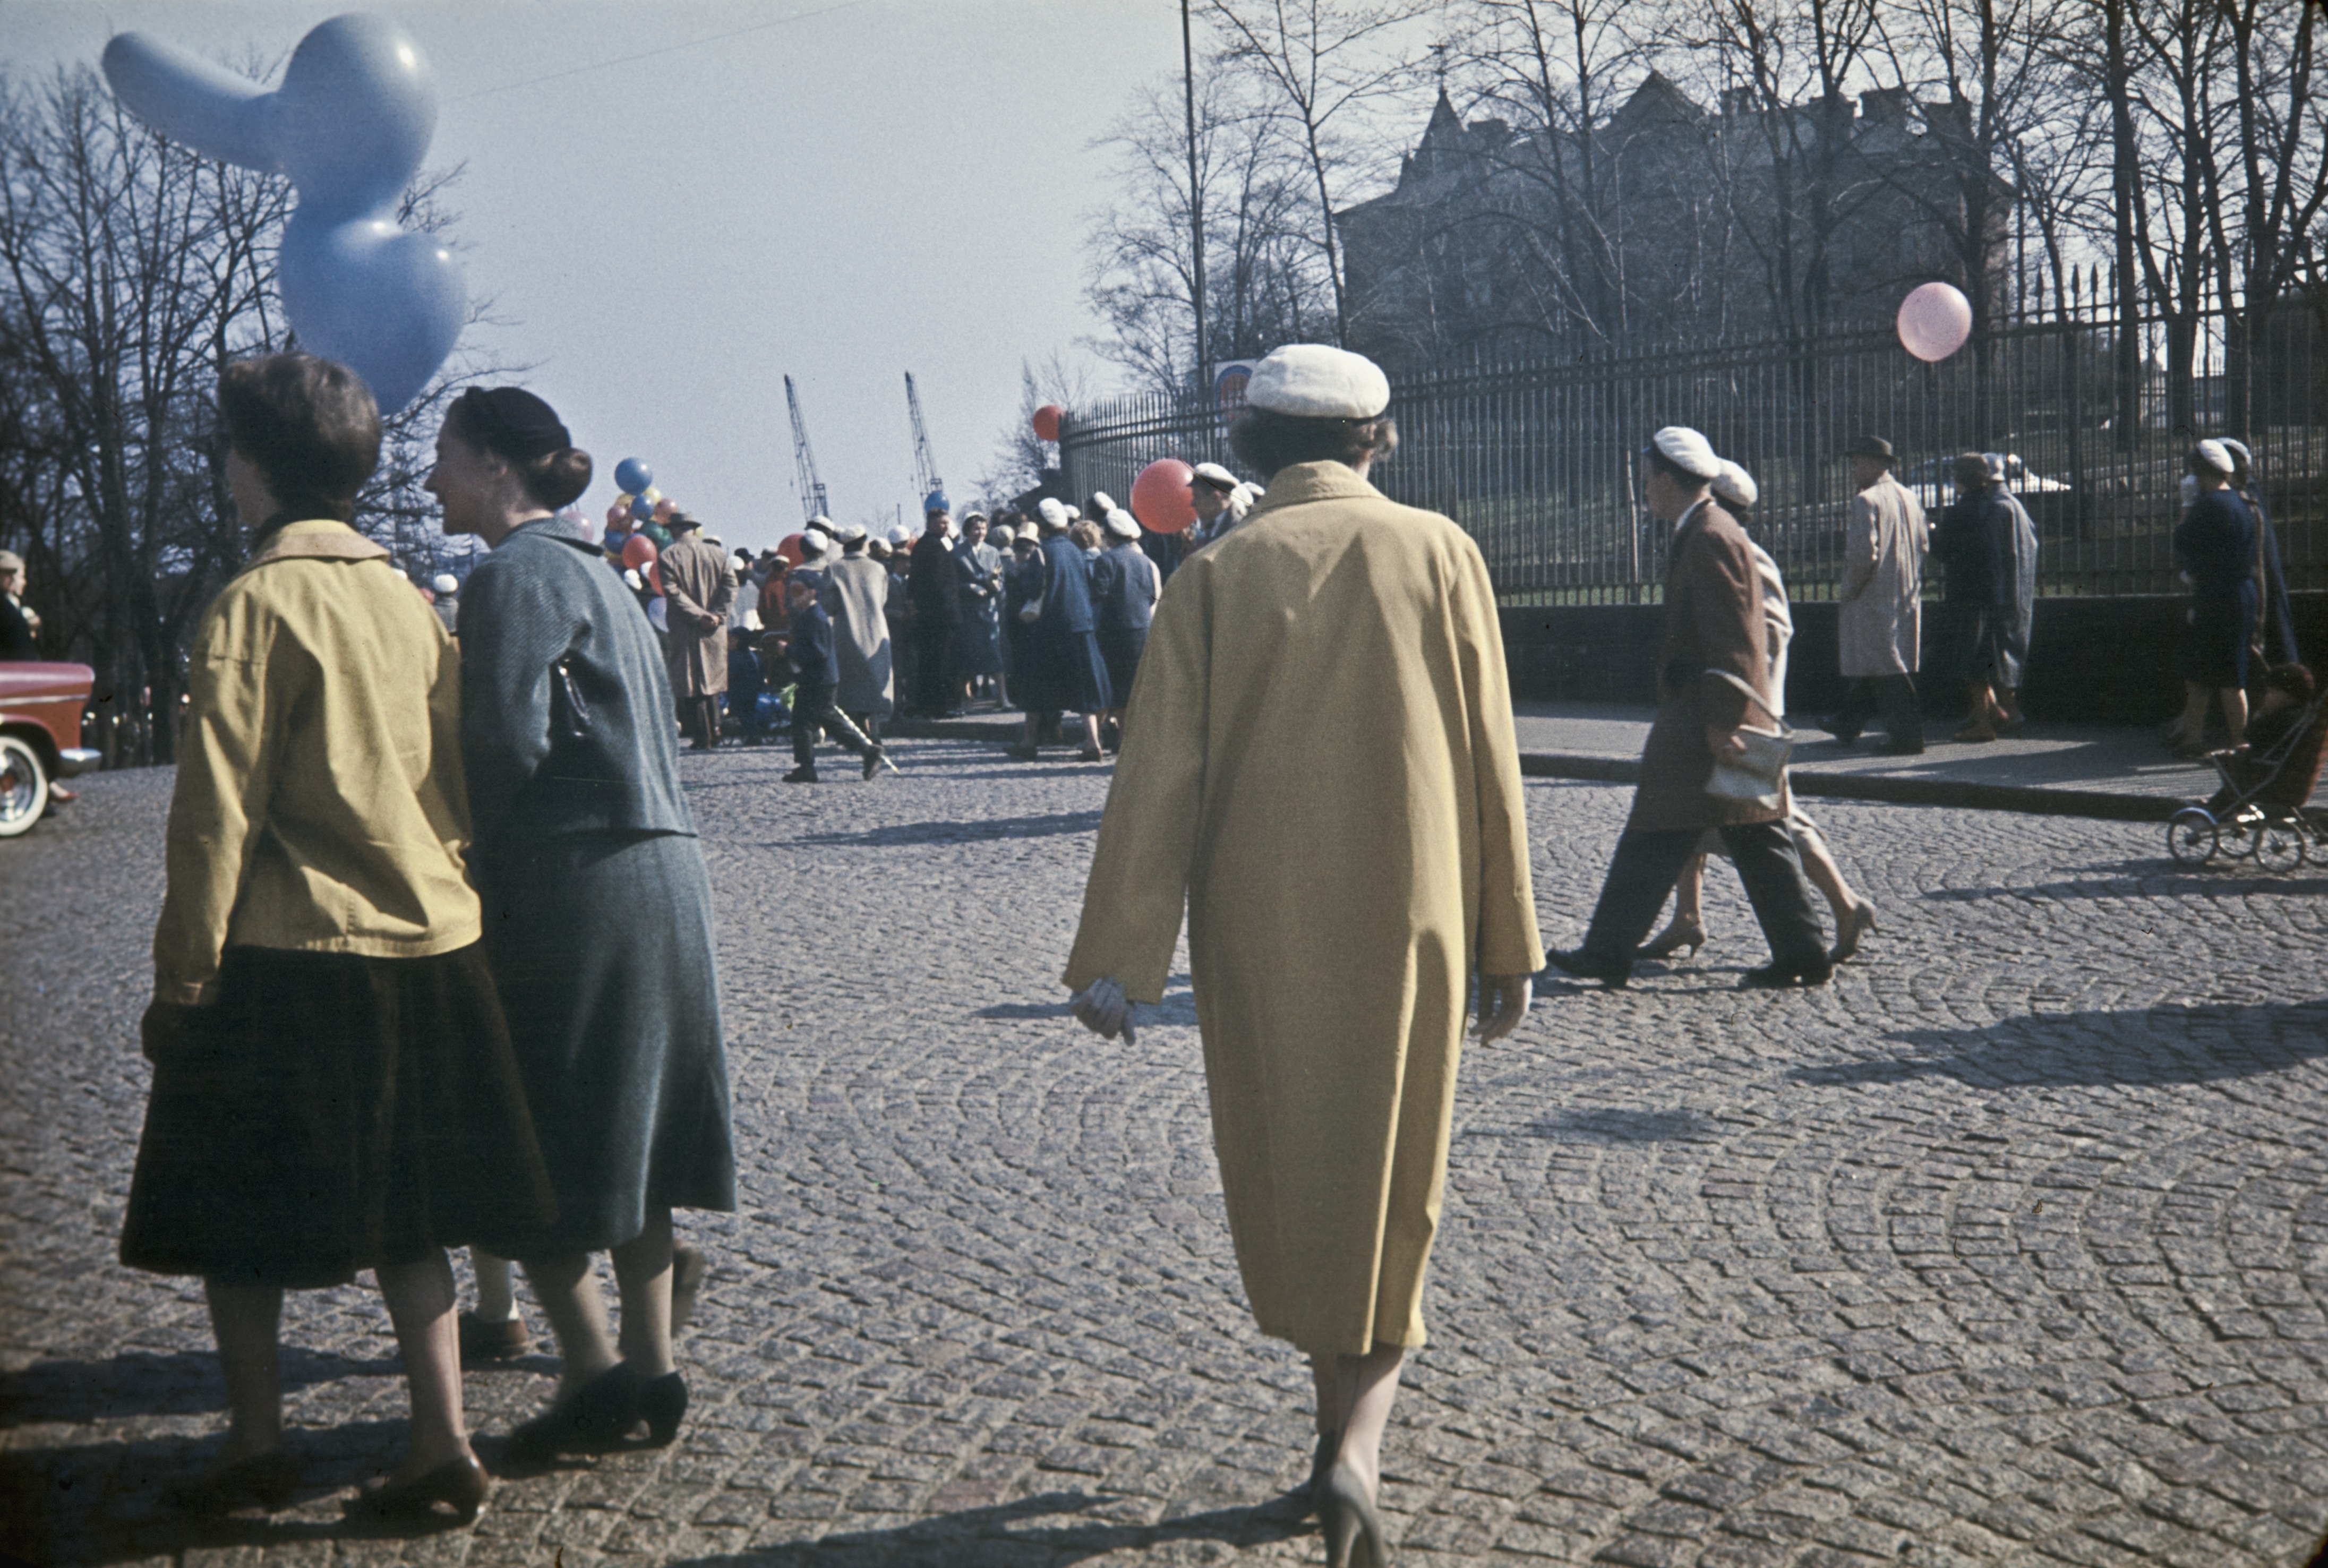
M 291 177 L 277 286 L 310 354 L 363 377 L 382 414 L 412 402 L 468 321 L 461 265 L 396 205 L 435 135 L 438 93 L 419 44 L 352 12 L 291 51 L 272 93 L 144 33 L 105 44 L 121 105 L 205 158 Z

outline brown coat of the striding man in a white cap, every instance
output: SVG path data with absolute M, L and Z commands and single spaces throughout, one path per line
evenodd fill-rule
M 1769 686 L 1769 626 L 1753 542 L 1713 500 L 1683 519 L 1665 568 L 1658 721 L 1641 749 L 1641 784 L 1632 793 L 1627 828 L 1713 828 L 1779 821 L 1788 814 L 1793 803 L 1783 789 L 1776 810 L 1706 793 L 1706 779 L 1713 777 L 1706 726 L 1730 730 L 1739 724 L 1772 724 L 1767 712 L 1748 707 L 1744 691 L 1706 675 L 1709 670 L 1730 670 L 1760 696 L 1776 696 Z

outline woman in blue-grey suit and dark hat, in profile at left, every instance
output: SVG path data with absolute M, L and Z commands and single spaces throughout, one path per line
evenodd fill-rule
M 519 1463 L 670 1442 L 670 1210 L 733 1210 L 712 896 L 680 796 L 670 677 L 647 616 L 554 509 L 589 484 L 547 402 L 470 389 L 428 489 L 494 554 L 461 593 L 461 754 L 487 956 L 510 1014 L 556 1221 L 519 1259 L 566 1375 Z M 589 1254 L 615 1254 L 622 1345 Z

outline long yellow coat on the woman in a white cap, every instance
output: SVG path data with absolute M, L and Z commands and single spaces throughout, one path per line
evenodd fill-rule
M 1164 586 L 1066 984 L 1164 993 L 1180 907 L 1262 1333 L 1422 1345 L 1469 975 L 1543 968 L 1478 547 L 1299 463 Z

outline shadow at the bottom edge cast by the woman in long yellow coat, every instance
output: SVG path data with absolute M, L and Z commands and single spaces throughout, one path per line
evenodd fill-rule
M 754 1547 L 736 1556 L 696 1556 L 673 1568 L 1017 1568 L 1020 1563 L 1080 1563 L 1108 1552 L 1155 1549 L 1171 1542 L 1225 1542 L 1257 1547 L 1308 1535 L 1315 1526 L 1297 1519 L 1285 1498 L 1262 1508 L 1220 1508 L 1157 1524 L 1110 1524 L 1078 1519 L 1043 1528 L 1017 1521 L 1080 1514 L 1108 1503 L 1083 1491 L 1048 1491 L 1020 1503 L 931 1514 L 894 1531 L 840 1531 L 799 1545 Z M 1180 1561 L 1180 1559 L 1173 1559 Z M 1211 1561 L 1211 1559 L 1206 1559 Z

